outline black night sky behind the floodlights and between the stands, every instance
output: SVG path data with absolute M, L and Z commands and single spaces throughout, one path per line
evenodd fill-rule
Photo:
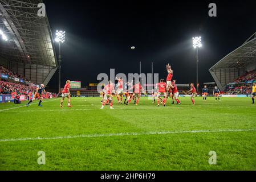
M 208 16 L 210 2 L 217 17 Z M 165 64 L 179 84 L 196 82 L 192 37 L 202 36 L 200 82 L 208 69 L 256 31 L 256 1 L 61 1 L 44 0 L 52 33 L 66 31 L 62 86 L 67 79 L 95 83 L 99 73 L 151 73 L 166 78 Z M 131 50 L 135 46 L 135 50 Z M 56 49 L 58 45 L 56 45 Z M 49 83 L 58 88 L 58 72 Z

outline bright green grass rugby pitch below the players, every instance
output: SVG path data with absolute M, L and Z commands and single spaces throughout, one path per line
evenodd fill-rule
M 250 98 L 180 100 L 157 107 L 147 98 L 139 106 L 115 99 L 114 110 L 100 110 L 100 98 L 72 98 L 74 107 L 63 109 L 59 99 L 0 104 L 0 170 L 256 170 Z

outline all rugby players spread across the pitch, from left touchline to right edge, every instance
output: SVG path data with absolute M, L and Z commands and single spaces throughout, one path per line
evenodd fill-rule
M 168 72 L 168 76 L 166 78 L 166 82 L 164 79 L 161 79 L 158 84 L 156 84 L 155 89 L 152 90 L 153 95 L 153 104 L 156 102 L 157 98 L 157 106 L 161 105 L 165 106 L 166 101 L 168 98 L 172 98 L 172 104 L 174 104 L 174 100 L 177 102 L 178 105 L 181 104 L 180 100 L 178 99 L 178 89 L 176 85 L 176 80 L 172 80 L 173 77 L 173 70 L 170 67 L 169 64 L 166 65 L 166 71 Z M 141 97 L 141 93 L 145 93 L 145 90 L 140 84 L 140 81 L 136 81 L 133 85 L 133 81 L 126 82 L 124 85 L 123 78 L 116 78 L 118 80 L 117 84 L 117 91 L 115 91 L 115 84 L 112 83 L 112 81 L 108 81 L 108 84 L 104 86 L 103 89 L 103 97 L 101 100 L 101 109 L 104 109 L 105 105 L 110 105 L 110 109 L 113 109 L 113 95 L 116 96 L 118 104 L 123 104 L 123 95 L 125 95 L 124 104 L 129 105 L 132 101 L 134 101 L 134 104 L 138 105 Z M 124 88 L 126 89 L 126 92 L 124 93 Z M 42 94 L 46 93 L 45 86 L 41 84 L 39 88 L 36 88 L 36 92 L 34 97 L 26 104 L 27 107 L 31 104 L 32 101 L 38 99 L 39 103 L 38 106 L 42 107 L 41 103 L 43 101 Z M 190 90 L 187 92 L 191 94 L 191 101 L 192 104 L 195 105 L 194 97 L 197 97 L 197 91 L 194 87 L 194 84 L 190 84 Z M 213 95 L 216 97 L 216 101 L 220 101 L 220 89 L 215 86 L 213 90 Z M 203 100 L 206 101 L 207 97 L 209 95 L 207 86 L 204 86 L 202 89 L 202 97 Z M 253 104 L 256 97 L 256 82 L 253 84 L 253 90 L 251 92 Z M 70 104 L 71 102 L 71 93 L 70 93 L 70 80 L 66 81 L 66 85 L 64 86 L 64 89 L 62 91 L 62 99 L 60 101 L 60 107 L 63 107 L 63 101 L 64 98 L 68 98 L 68 107 L 72 107 Z M 163 98 L 161 98 L 163 97 Z

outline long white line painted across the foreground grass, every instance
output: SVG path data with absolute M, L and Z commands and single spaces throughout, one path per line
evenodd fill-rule
M 166 134 L 189 134 L 189 133 L 231 133 L 256 131 L 256 129 L 225 129 L 225 130 L 192 130 L 192 131 L 149 131 L 141 133 L 112 133 L 112 134 L 83 134 L 64 137 L 37 137 L 37 138 L 11 138 L 0 139 L 0 142 L 18 142 L 27 140 L 57 140 L 57 139 L 74 139 L 74 138 L 99 138 L 99 137 L 124 137 L 124 136 L 140 136 L 140 135 L 166 135 Z

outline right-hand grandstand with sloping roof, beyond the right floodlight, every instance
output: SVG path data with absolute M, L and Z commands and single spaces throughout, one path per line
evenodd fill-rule
M 242 46 L 218 61 L 218 63 L 210 68 L 209 71 L 221 91 L 225 91 L 227 85 L 230 84 L 234 85 L 234 88 L 240 86 L 239 89 L 242 91 L 241 86 L 246 86 L 245 84 L 251 84 L 255 81 L 253 75 L 250 75 L 254 73 L 255 69 L 256 32 L 251 35 Z M 249 80 L 246 80 L 246 77 L 248 77 Z M 242 79 L 242 82 L 238 85 L 238 80 L 240 78 Z M 246 93 L 246 91 L 244 93 Z

